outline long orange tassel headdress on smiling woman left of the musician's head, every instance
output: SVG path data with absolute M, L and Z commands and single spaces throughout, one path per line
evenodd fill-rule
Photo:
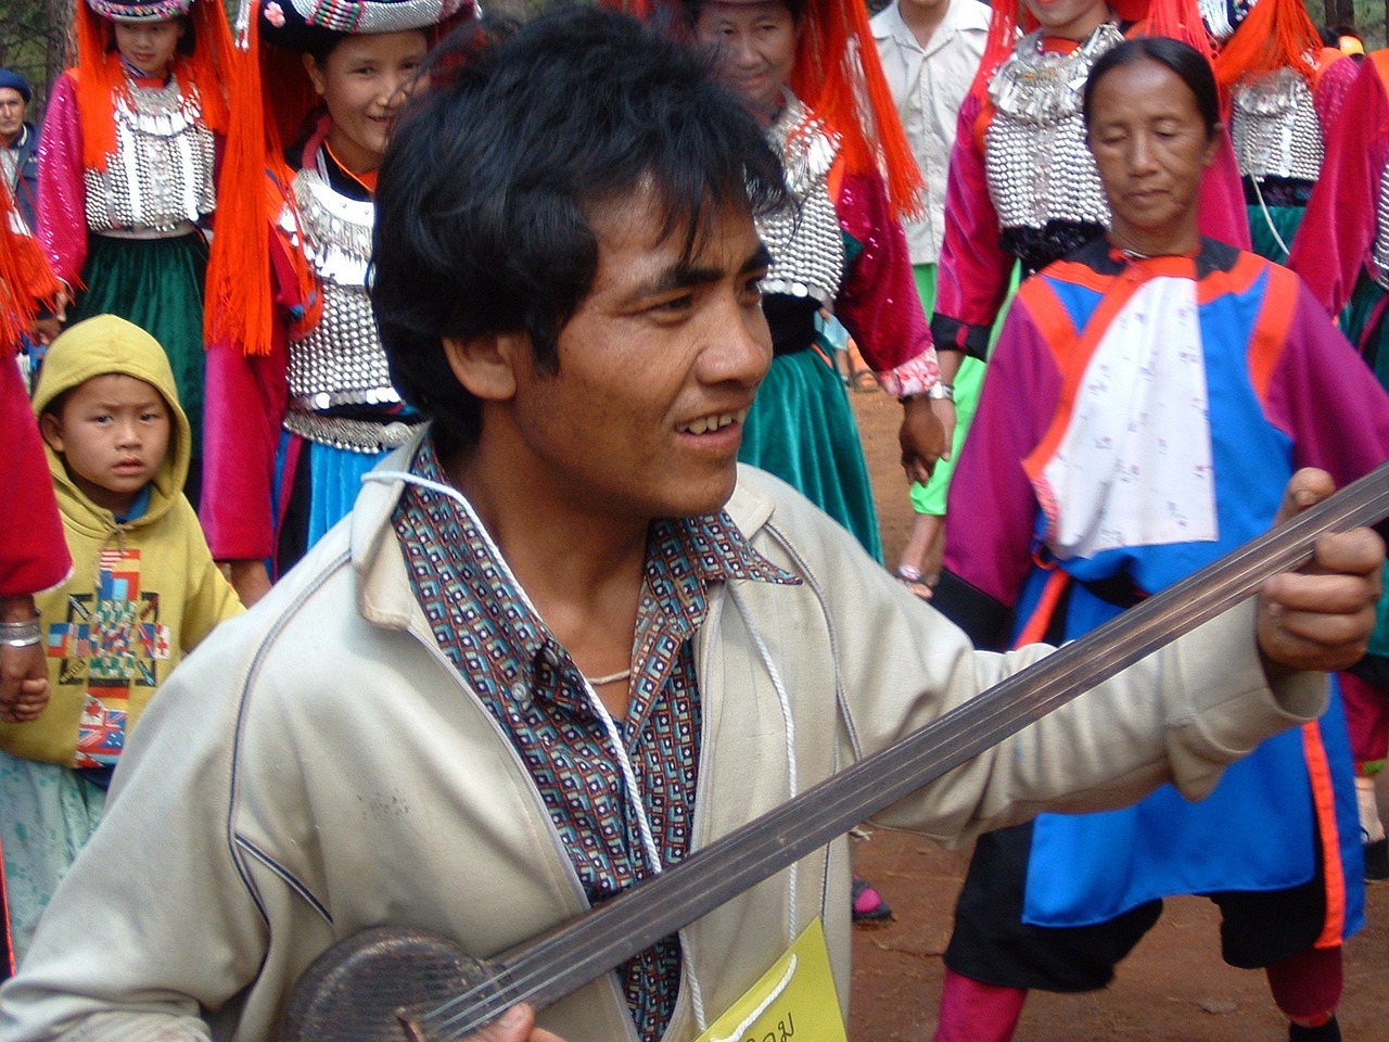
M 203 339 L 269 354 L 275 328 L 268 239 L 293 171 L 285 147 L 318 107 L 303 54 L 350 33 L 424 29 L 431 44 L 475 8 L 465 0 L 243 0 L 236 17 L 231 126 L 222 153 L 217 233 L 207 268 Z M 313 328 L 321 300 L 304 257 L 289 258 Z

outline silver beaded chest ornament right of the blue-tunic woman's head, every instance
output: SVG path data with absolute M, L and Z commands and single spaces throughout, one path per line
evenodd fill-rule
M 1229 136 L 1245 176 L 1315 181 L 1321 175 L 1321 124 L 1307 81 L 1295 69 L 1235 88 Z

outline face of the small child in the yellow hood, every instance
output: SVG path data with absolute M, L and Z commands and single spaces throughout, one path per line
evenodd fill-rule
M 60 415 L 39 421 L 44 440 L 67 461 L 82 492 L 115 514 L 135 497 L 164 463 L 169 447 L 169 407 L 151 385 L 108 372 L 74 389 Z

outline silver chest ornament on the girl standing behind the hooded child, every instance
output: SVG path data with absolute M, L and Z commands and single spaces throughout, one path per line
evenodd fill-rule
M 86 221 L 93 232 L 183 232 L 217 207 L 213 132 L 197 90 L 176 78 L 161 88 L 131 85 L 115 101 L 115 153 L 88 169 Z

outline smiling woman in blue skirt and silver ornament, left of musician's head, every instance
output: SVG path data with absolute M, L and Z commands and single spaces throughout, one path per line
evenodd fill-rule
M 243 220 L 224 215 L 213 247 L 201 520 L 246 603 L 347 513 L 361 475 L 419 422 L 390 383 L 367 296 L 374 195 L 390 122 L 438 26 L 461 8 L 256 0 L 239 19 L 236 100 L 260 117 L 244 133 L 264 149 L 229 144 L 251 169 L 229 169 L 228 190 L 254 200 Z

